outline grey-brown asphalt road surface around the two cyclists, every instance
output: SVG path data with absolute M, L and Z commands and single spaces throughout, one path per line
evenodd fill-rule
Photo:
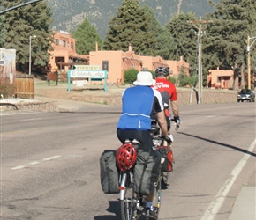
M 120 219 L 118 194 L 102 193 L 99 173 L 102 151 L 120 146 L 119 115 L 86 104 L 2 114 L 1 219 Z M 255 186 L 255 104 L 180 106 L 180 116 L 160 219 L 229 219 L 241 188 Z

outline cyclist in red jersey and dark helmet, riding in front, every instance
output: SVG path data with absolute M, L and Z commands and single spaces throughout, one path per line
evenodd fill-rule
M 165 116 L 168 124 L 168 130 L 170 128 L 170 114 L 169 114 L 169 103 L 173 113 L 174 121 L 179 125 L 180 118 L 178 115 L 178 106 L 177 106 L 177 89 L 175 84 L 172 84 L 168 80 L 169 70 L 166 67 L 158 67 L 155 70 L 155 84 L 152 87 L 155 90 L 161 92 L 162 102 L 165 109 Z

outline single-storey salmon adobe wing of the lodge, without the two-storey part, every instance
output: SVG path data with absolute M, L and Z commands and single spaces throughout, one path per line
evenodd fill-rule
M 108 71 L 108 83 L 123 84 L 124 83 L 124 71 L 135 70 L 152 70 L 157 67 L 168 67 L 171 72 L 171 77 L 177 77 L 183 69 L 184 72 L 189 74 L 189 63 L 184 62 L 180 57 L 179 61 L 167 61 L 163 60 L 161 56 L 143 56 L 136 55 L 132 51 L 130 45 L 128 51 L 90 51 L 89 53 L 90 65 L 101 65 L 102 70 Z M 94 82 L 95 84 L 95 82 Z

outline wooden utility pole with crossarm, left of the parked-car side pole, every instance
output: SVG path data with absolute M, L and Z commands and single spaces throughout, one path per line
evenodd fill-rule
M 198 79 L 199 79 L 199 99 L 198 104 L 203 103 L 203 71 L 202 71 L 202 37 L 204 35 L 203 26 L 202 24 L 208 24 L 212 23 L 212 20 L 202 20 L 201 17 L 199 20 L 190 20 L 189 23 L 191 23 L 193 26 L 195 26 L 198 29 Z M 198 26 L 197 26 L 198 25 Z

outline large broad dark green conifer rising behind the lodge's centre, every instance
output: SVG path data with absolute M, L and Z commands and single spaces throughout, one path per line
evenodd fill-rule
M 104 48 L 126 51 L 129 44 L 140 55 L 156 55 L 156 38 L 161 26 L 154 11 L 147 5 L 139 6 L 138 0 L 124 0 L 117 16 L 109 21 L 109 32 Z

